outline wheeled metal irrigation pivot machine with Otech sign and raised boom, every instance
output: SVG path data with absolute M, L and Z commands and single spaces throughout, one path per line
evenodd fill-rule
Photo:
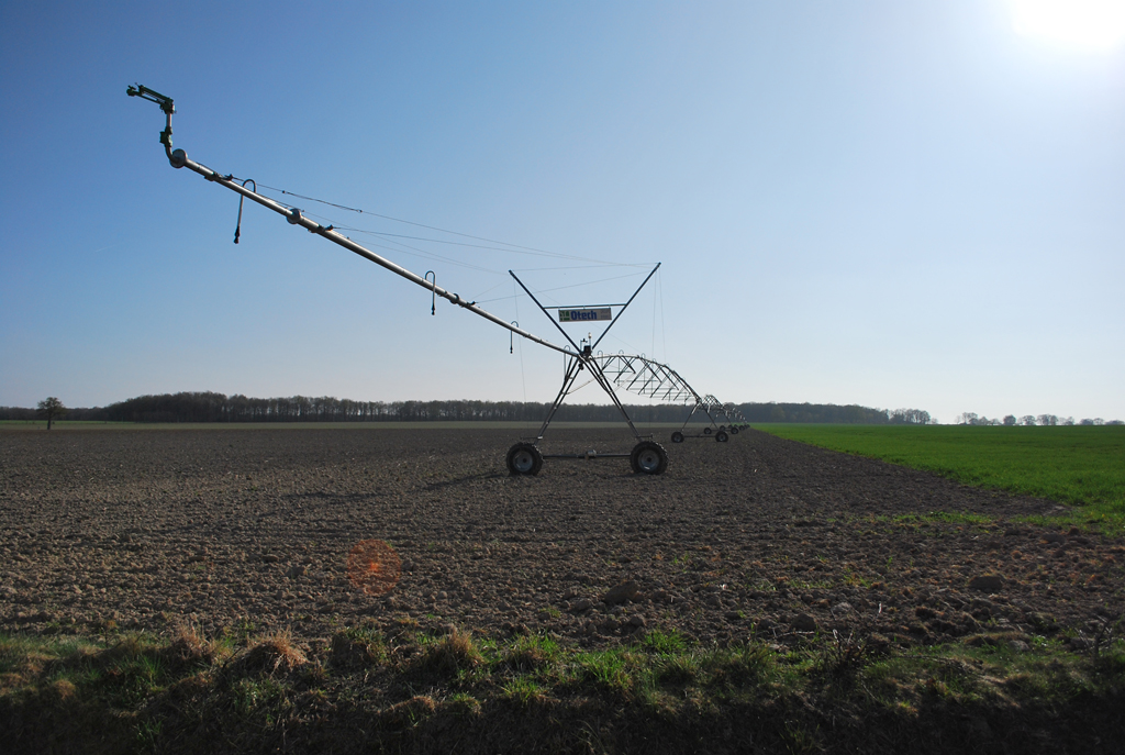
M 438 297 L 449 300 L 464 309 L 468 309 L 475 315 L 484 317 L 485 320 L 500 325 L 512 332 L 513 335 L 519 335 L 529 341 L 543 345 L 548 349 L 554 349 L 566 357 L 566 369 L 562 377 L 562 387 L 559 388 L 558 396 L 556 396 L 554 404 L 547 413 L 539 432 L 534 438 L 524 438 L 520 442 L 512 446 L 507 451 L 506 462 L 507 469 L 512 475 L 536 475 L 543 466 L 544 459 L 603 459 L 603 458 L 627 458 L 632 467 L 632 470 L 637 474 L 644 475 L 659 475 L 663 474 L 668 467 L 668 455 L 664 447 L 652 440 L 651 435 L 642 435 L 633 421 L 629 417 L 629 413 L 626 411 L 624 405 L 618 398 L 618 394 L 614 387 L 619 387 L 642 396 L 648 396 L 650 398 L 665 401 L 667 403 L 692 403 L 692 414 L 696 411 L 702 411 L 709 419 L 711 419 L 711 424 L 714 425 L 713 412 L 717 406 L 721 407 L 713 396 L 701 396 L 698 394 L 686 380 L 680 377 L 675 370 L 666 365 L 652 361 L 645 358 L 644 356 L 631 356 L 631 354 L 604 354 L 596 351 L 597 344 L 601 342 L 609 330 L 614 325 L 616 320 L 621 314 L 629 307 L 632 300 L 637 297 L 640 290 L 652 278 L 656 271 L 659 269 L 659 263 L 652 268 L 648 273 L 641 285 L 633 291 L 632 296 L 623 303 L 615 304 L 597 304 L 597 305 L 580 305 L 580 306 L 544 306 L 538 298 L 531 293 L 530 289 L 523 284 L 520 278 L 512 272 L 508 273 L 513 279 L 520 285 L 520 287 L 531 297 L 532 302 L 540 308 L 540 311 L 547 315 L 555 327 L 558 329 L 562 338 L 566 339 L 566 343 L 559 345 L 552 343 L 547 339 L 540 338 L 522 327 L 520 327 L 514 322 L 507 322 L 502 317 L 498 317 L 490 312 L 483 309 L 477 306 L 475 302 L 467 302 L 457 294 L 453 294 L 444 288 L 438 286 L 436 276 L 432 271 L 428 271 L 425 276 L 417 276 L 411 272 L 406 268 L 403 268 L 390 260 L 376 254 L 371 250 L 361 246 L 348 236 L 344 236 L 339 231 L 334 230 L 332 225 L 321 225 L 315 221 L 306 217 L 300 209 L 297 207 L 288 206 L 279 201 L 274 201 L 269 197 L 264 197 L 258 194 L 258 186 L 252 179 L 236 179 L 233 174 L 222 174 L 218 171 L 212 170 L 206 165 L 202 165 L 194 160 L 190 160 L 183 150 L 172 149 L 172 116 L 176 114 L 176 106 L 172 99 L 161 95 L 147 87 L 142 87 L 136 84 L 129 87 L 127 90 L 129 97 L 140 97 L 142 99 L 155 102 L 163 110 L 165 116 L 164 131 L 160 133 L 160 143 L 164 145 L 164 153 L 168 155 L 169 162 L 172 168 L 187 168 L 188 170 L 202 176 L 205 179 L 213 183 L 226 187 L 227 189 L 240 195 L 238 200 L 238 219 L 241 226 L 242 219 L 242 200 L 250 199 L 251 201 L 258 203 L 267 209 L 271 209 L 278 215 L 284 216 L 291 225 L 300 226 L 310 233 L 315 233 L 344 249 L 359 254 L 360 257 L 375 262 L 376 264 L 390 270 L 397 276 L 405 278 L 416 286 L 429 290 L 434 302 Z M 252 189 L 248 189 L 248 185 L 253 185 Z M 238 242 L 238 231 L 235 231 L 235 243 Z M 431 276 L 432 279 L 431 279 Z M 613 308 L 619 307 L 616 315 L 613 315 Z M 431 309 L 432 311 L 432 309 Z M 551 311 L 555 311 L 556 315 L 552 316 Z M 604 322 L 608 323 L 605 330 L 597 338 L 597 340 L 580 340 L 578 343 L 570 338 L 569 334 L 562 329 L 564 323 L 573 322 Z M 546 433 L 547 428 L 550 425 L 555 413 L 561 406 L 562 402 L 566 399 L 573 390 L 576 390 L 575 383 L 577 381 L 579 375 L 586 371 L 590 374 L 591 379 L 596 381 L 598 386 L 605 392 L 605 394 L 616 406 L 621 416 L 624 419 L 626 424 L 629 425 L 629 430 L 633 434 L 636 444 L 628 452 L 603 452 L 596 450 L 587 450 L 580 453 L 542 453 L 539 449 L 539 441 L 543 439 L 543 433 Z M 579 386 L 580 387 L 580 386 Z M 688 415 L 688 420 L 692 414 Z M 684 425 L 686 426 L 686 422 Z M 673 433 L 673 441 L 681 442 L 684 439 L 684 434 L 681 431 Z M 711 428 L 709 426 L 704 433 L 710 435 Z M 732 425 L 732 431 L 737 432 L 737 429 Z M 694 435 L 693 435 L 694 437 Z M 716 440 L 726 441 L 727 433 L 726 428 L 720 428 L 716 433 Z

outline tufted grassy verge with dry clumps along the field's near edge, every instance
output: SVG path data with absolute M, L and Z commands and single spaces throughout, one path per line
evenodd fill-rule
M 1123 704 L 1112 636 L 1081 655 L 1005 633 L 890 654 L 652 632 L 588 651 L 405 618 L 315 654 L 287 636 L 0 636 L 10 753 L 1110 752 Z

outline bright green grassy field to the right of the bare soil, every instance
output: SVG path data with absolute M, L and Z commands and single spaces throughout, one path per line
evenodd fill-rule
M 1080 519 L 1117 534 L 1125 527 L 1125 426 L 754 426 L 970 485 L 1081 505 Z

